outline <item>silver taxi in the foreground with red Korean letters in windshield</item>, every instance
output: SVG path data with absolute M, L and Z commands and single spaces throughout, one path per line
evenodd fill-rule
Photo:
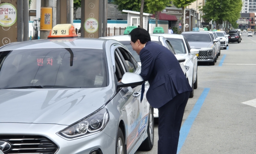
M 0 47 L 0 151 L 151 150 L 153 108 L 145 97 L 149 85 L 140 102 L 141 68 L 128 49 L 115 40 L 58 35 Z

